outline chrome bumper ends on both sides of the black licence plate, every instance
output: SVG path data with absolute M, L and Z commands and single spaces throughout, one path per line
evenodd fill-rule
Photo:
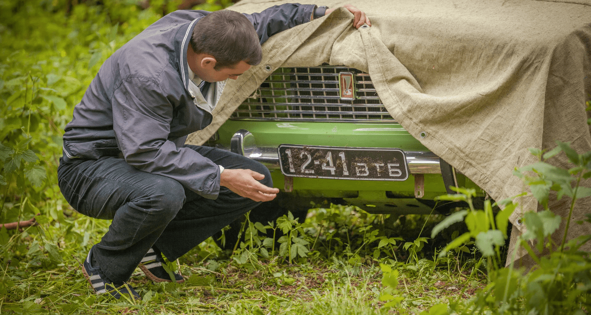
M 230 141 L 230 151 L 241 154 L 265 165 L 269 170 L 279 170 L 279 154 L 277 147 L 258 147 L 255 136 L 241 129 Z M 442 174 L 447 172 L 449 164 L 431 151 L 404 151 L 408 171 L 411 174 Z M 443 161 L 443 163 L 441 163 Z

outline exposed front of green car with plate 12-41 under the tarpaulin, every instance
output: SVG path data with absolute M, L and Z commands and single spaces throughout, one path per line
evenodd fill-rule
M 382 105 L 369 74 L 342 66 L 283 67 L 246 99 L 207 145 L 269 168 L 276 202 L 353 204 L 372 213 L 449 212 L 434 197 L 474 187 L 413 138 Z

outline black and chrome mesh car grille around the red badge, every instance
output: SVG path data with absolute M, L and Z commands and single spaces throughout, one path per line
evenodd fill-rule
M 339 73 L 353 73 L 355 99 L 342 100 Z M 394 122 L 369 74 L 342 66 L 275 70 L 232 114 L 232 120 Z

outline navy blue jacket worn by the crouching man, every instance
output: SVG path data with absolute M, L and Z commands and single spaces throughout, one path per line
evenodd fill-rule
M 310 21 L 314 5 L 284 4 L 245 14 L 261 44 Z M 64 161 L 119 156 L 139 170 L 174 178 L 210 199 L 220 188 L 218 165 L 184 148 L 191 132 L 212 122 L 188 90 L 187 47 L 207 11 L 175 11 L 115 51 L 100 67 L 64 134 Z

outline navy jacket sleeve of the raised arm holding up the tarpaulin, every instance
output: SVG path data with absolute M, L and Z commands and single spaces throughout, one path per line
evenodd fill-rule
M 282 4 L 260 13 L 244 14 L 254 25 L 261 44 L 274 34 L 310 22 L 316 5 Z

